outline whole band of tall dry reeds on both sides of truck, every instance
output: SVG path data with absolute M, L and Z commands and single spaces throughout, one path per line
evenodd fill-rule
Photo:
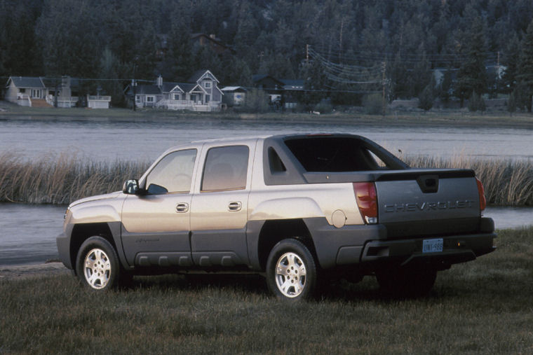
M 400 157 L 412 167 L 473 168 L 494 205 L 533 205 L 533 162 Z M 43 156 L 34 161 L 0 153 L 0 202 L 67 204 L 81 197 L 121 190 L 139 178 L 148 162 L 91 162 L 76 156 Z

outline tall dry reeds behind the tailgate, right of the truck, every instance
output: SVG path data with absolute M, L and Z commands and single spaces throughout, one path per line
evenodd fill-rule
M 468 155 L 452 158 L 404 156 L 411 167 L 473 169 L 483 182 L 489 204 L 533 205 L 533 162 L 524 160 L 483 160 Z

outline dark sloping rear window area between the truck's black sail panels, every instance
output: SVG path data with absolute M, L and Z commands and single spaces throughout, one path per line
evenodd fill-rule
M 360 172 L 388 169 L 359 139 L 312 137 L 285 141 L 308 172 Z

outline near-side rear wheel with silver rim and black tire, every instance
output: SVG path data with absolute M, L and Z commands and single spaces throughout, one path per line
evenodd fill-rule
M 309 249 L 296 239 L 283 239 L 267 259 L 267 285 L 280 300 L 297 302 L 313 297 L 316 264 Z

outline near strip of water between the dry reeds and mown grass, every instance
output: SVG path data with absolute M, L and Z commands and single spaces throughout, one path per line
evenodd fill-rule
M 0 265 L 44 263 L 58 258 L 65 206 L 0 203 Z M 532 208 L 489 207 L 497 229 L 533 225 Z

